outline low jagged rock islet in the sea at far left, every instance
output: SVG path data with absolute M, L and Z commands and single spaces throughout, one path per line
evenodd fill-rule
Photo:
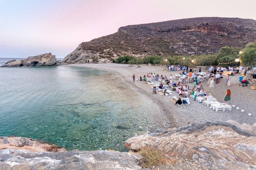
M 40 54 L 33 57 L 27 57 L 22 60 L 9 60 L 1 67 L 30 67 L 30 66 L 53 66 L 58 65 L 55 55 L 51 53 Z

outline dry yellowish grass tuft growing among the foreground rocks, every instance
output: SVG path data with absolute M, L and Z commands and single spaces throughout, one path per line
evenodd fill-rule
M 139 151 L 139 154 L 144 157 L 142 159 L 143 167 L 149 168 L 150 166 L 158 165 L 166 162 L 166 158 L 163 152 L 155 148 L 144 147 Z

